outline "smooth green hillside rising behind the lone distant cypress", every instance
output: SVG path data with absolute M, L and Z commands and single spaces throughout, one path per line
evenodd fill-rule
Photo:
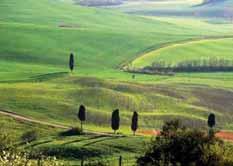
M 193 28 L 196 23 L 177 25 L 66 1 L 4 0 L 0 9 L 1 80 L 3 76 L 6 80 L 16 75 L 25 79 L 23 76 L 33 73 L 67 71 L 70 52 L 77 56 L 79 74 L 96 75 L 103 69 L 112 72 L 136 54 L 162 43 L 231 32 L 227 25 L 221 30 L 211 24 Z

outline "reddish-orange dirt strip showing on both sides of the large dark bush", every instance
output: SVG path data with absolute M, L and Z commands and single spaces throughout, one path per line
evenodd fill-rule
M 160 134 L 160 131 L 158 130 L 141 130 L 139 131 L 140 134 L 143 135 L 149 135 L 149 136 L 156 136 Z M 216 133 L 216 137 L 228 140 L 228 141 L 233 141 L 233 132 L 230 131 L 219 131 Z

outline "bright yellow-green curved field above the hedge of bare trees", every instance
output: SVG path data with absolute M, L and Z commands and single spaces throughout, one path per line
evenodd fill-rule
M 143 68 L 158 61 L 164 61 L 172 66 L 192 60 L 225 59 L 232 61 L 232 44 L 231 38 L 174 43 L 140 56 L 132 62 L 132 67 Z

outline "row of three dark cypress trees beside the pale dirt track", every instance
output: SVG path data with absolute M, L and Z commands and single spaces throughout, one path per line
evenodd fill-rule
M 78 111 L 78 119 L 80 120 L 81 124 L 81 130 L 83 131 L 83 123 L 86 121 L 86 108 L 84 105 L 79 106 Z M 112 118 L 111 118 L 111 128 L 116 133 L 117 130 L 120 128 L 120 111 L 119 109 L 115 109 L 112 112 Z M 138 113 L 136 111 L 133 112 L 132 115 L 132 122 L 131 122 L 131 130 L 133 131 L 133 134 L 135 135 L 135 132 L 138 129 Z

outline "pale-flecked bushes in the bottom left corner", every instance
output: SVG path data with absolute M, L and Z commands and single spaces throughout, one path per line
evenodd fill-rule
M 40 153 L 27 151 L 20 145 L 37 139 L 36 131 L 25 132 L 22 143 L 18 144 L 12 136 L 0 128 L 0 165 L 1 166 L 61 166 L 63 165 L 55 157 L 46 157 Z

